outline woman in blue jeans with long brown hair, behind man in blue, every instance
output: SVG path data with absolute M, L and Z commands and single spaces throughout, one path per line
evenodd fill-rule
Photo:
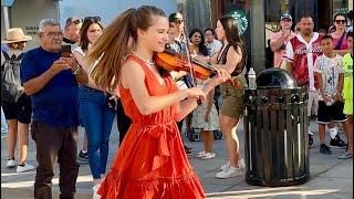
M 85 56 L 102 33 L 103 25 L 100 17 L 84 19 L 80 30 L 79 48 L 73 53 L 86 73 L 90 73 L 91 66 L 86 64 Z M 115 101 L 110 100 L 111 96 L 113 95 L 100 90 L 91 78 L 88 78 L 88 84 L 79 87 L 80 122 L 88 138 L 88 164 L 94 185 L 101 182 L 106 170 L 108 142 L 115 115 L 113 109 Z

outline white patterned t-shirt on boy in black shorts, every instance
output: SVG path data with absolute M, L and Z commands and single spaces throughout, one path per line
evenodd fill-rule
M 314 63 L 314 72 L 321 73 L 322 75 L 322 83 L 325 95 L 335 95 L 340 82 L 340 74 L 344 73 L 342 56 L 336 54 L 335 57 L 327 57 L 322 54 L 316 59 Z M 319 95 L 319 100 L 323 101 L 321 93 Z

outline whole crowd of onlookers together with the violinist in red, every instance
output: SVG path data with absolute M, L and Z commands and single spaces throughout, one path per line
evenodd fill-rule
M 346 147 L 339 156 L 343 159 L 353 156 L 353 32 L 346 30 L 347 17 L 353 24 L 353 11 L 337 13 L 334 31 L 322 34 L 313 32 L 311 15 L 302 15 L 299 31 L 292 31 L 292 17 L 282 14 L 281 30 L 269 43 L 273 66 L 308 87 L 308 115 L 317 117 L 320 153 L 331 154 L 327 125 L 330 146 Z M 247 53 L 235 18 L 221 17 L 215 30 L 187 33 L 181 13 L 166 17 L 156 7 L 143 6 L 105 28 L 100 17 L 69 18 L 63 31 L 58 21 L 43 19 L 40 46 L 24 52 L 31 39 L 12 28 L 2 41 L 8 49 L 1 51 L 1 72 L 14 75 L 2 75 L 1 108 L 8 167 L 17 166 L 17 172 L 34 169 L 25 163 L 29 132 L 35 142 L 34 198 L 52 197 L 55 163 L 62 198 L 73 198 L 82 163 L 90 165 L 94 198 L 205 198 L 187 158 L 192 148 L 183 142 L 184 124 L 187 132 L 200 129 L 204 149 L 196 157 L 205 160 L 217 156 L 212 132 L 220 129 L 228 161 L 216 177 L 242 175 L 237 127 L 243 114 Z M 64 45 L 71 54 L 64 54 Z M 160 67 L 155 55 L 162 52 L 180 56 L 179 64 L 190 71 Z M 216 75 L 196 78 L 190 60 L 212 67 Z M 106 172 L 115 116 L 119 147 Z M 337 134 L 340 123 L 347 143 Z M 82 138 L 77 126 L 84 127 Z M 309 127 L 310 140 L 312 136 Z M 77 139 L 83 139 L 79 153 Z

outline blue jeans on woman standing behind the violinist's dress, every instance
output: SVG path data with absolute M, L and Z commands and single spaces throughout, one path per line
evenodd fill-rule
M 115 112 L 107 96 L 98 90 L 81 85 L 79 90 L 80 121 L 87 134 L 88 164 L 94 179 L 105 174 L 108 143 Z

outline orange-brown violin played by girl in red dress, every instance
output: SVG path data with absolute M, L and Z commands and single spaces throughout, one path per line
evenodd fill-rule
M 188 65 L 188 61 L 181 54 L 173 55 L 168 52 L 159 52 L 154 55 L 154 61 L 159 67 L 167 71 L 190 72 L 190 65 Z M 211 64 L 197 57 L 191 57 L 191 71 L 195 73 L 194 75 L 200 80 L 207 80 L 217 74 L 217 71 Z

